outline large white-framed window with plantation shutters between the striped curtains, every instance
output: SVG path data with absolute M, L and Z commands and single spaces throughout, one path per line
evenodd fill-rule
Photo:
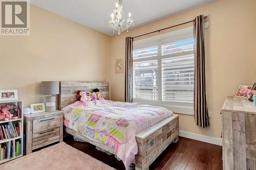
M 193 114 L 193 28 L 134 41 L 133 101 Z

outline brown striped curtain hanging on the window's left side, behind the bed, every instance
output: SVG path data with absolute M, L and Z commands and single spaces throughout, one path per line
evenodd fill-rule
M 133 102 L 133 38 L 125 38 L 125 102 Z

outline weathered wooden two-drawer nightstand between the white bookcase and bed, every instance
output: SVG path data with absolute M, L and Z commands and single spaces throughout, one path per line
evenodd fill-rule
M 63 141 L 63 112 L 43 112 L 24 115 L 26 154 L 45 145 Z

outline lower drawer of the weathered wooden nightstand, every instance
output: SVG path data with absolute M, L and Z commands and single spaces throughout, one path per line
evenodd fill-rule
M 33 133 L 32 146 L 59 139 L 59 128 Z

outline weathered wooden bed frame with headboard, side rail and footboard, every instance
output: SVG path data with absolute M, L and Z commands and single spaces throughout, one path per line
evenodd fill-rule
M 77 90 L 92 90 L 98 88 L 100 94 L 106 100 L 109 99 L 108 82 L 60 82 L 59 109 L 68 106 L 76 101 Z M 65 127 L 65 132 L 81 138 L 105 151 L 115 154 L 114 150 L 106 145 L 102 145 L 79 132 Z M 179 140 L 179 116 L 174 114 L 158 124 L 147 128 L 136 135 L 138 144 L 138 154 L 135 156 L 136 170 L 147 170 L 152 162 L 168 147 L 172 142 Z

